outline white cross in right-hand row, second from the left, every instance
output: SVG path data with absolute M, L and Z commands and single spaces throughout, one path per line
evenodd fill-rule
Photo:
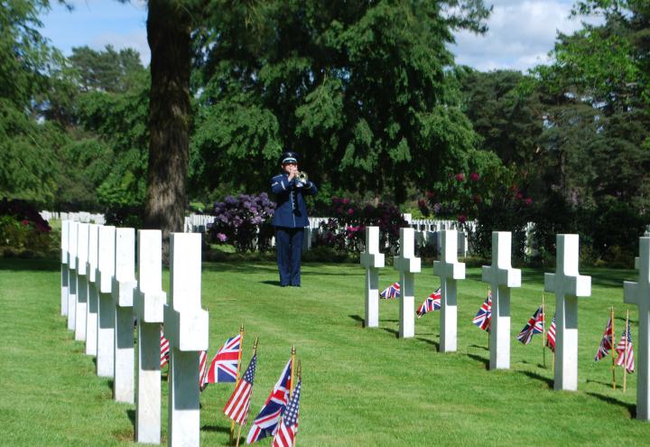
M 415 230 L 400 228 L 400 256 L 393 257 L 395 270 L 400 273 L 400 315 L 399 336 L 411 338 L 415 335 L 415 279 L 420 273 L 420 258 L 415 257 Z

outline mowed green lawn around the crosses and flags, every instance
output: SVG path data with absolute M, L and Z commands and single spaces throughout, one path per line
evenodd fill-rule
M 95 375 L 94 359 L 66 330 L 59 268 L 56 262 L 0 259 L 0 444 L 130 444 L 135 406 L 113 402 L 111 381 Z M 459 351 L 442 354 L 439 312 L 416 320 L 414 339 L 398 340 L 398 303 L 382 302 L 380 328 L 363 329 L 364 271 L 358 265 L 306 264 L 302 288 L 281 288 L 272 263 L 206 263 L 209 357 L 244 323 L 246 368 L 259 337 L 250 421 L 295 345 L 303 372 L 302 447 L 648 445 L 650 424 L 633 417 L 635 375 L 627 377 L 625 394 L 614 391 L 611 359 L 593 361 L 612 304 L 617 339 L 628 307 L 637 333 L 636 307 L 623 304 L 622 288 L 636 274 L 581 273 L 593 276 L 593 293 L 579 303 L 577 392 L 552 390 L 552 354 L 546 349 L 544 368 L 539 335 L 528 346 L 515 340 L 540 303 L 542 270 L 525 270 L 523 287 L 512 293 L 510 370 L 487 371 L 487 333 L 470 322 L 487 293 L 478 268 L 468 269 L 459 284 Z M 396 278 L 386 267 L 381 285 Z M 164 281 L 168 290 L 169 275 Z M 416 305 L 439 285 L 432 265 L 423 265 L 415 281 Z M 554 295 L 546 302 L 552 316 Z M 617 382 L 622 378 L 617 368 Z M 228 444 L 230 423 L 222 408 L 232 389 L 211 385 L 203 392 L 202 445 Z M 166 382 L 163 394 L 166 442 Z

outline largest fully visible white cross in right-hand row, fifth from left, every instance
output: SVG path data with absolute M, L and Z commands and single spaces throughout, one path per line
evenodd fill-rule
M 591 277 L 578 273 L 578 244 L 578 235 L 557 235 L 555 273 L 544 274 L 544 290 L 555 293 L 556 299 L 556 390 L 578 389 L 578 297 L 591 294 Z

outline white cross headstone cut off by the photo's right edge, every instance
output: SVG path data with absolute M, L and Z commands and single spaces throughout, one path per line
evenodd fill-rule
M 623 284 L 625 302 L 636 304 L 639 312 L 639 329 L 636 336 L 636 419 L 650 420 L 650 237 L 639 237 L 638 283 Z

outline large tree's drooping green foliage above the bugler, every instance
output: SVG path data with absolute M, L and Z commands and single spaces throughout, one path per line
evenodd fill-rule
M 320 184 L 403 201 L 409 185 L 440 180 L 441 165 L 468 163 L 476 135 L 450 88 L 445 45 L 451 28 L 480 31 L 482 2 L 218 6 L 214 32 L 197 42 L 209 109 L 195 144 L 218 166 L 211 176 L 198 168 L 202 178 L 244 172 L 244 182 L 285 148 L 302 152 Z M 222 158 L 232 165 L 220 168 Z

